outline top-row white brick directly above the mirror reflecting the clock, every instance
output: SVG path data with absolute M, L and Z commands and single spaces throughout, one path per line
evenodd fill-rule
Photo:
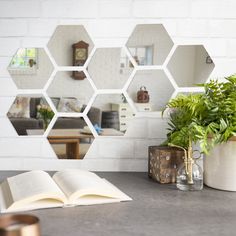
M 42 16 L 47 18 L 96 18 L 97 0 L 45 0 L 42 2 Z

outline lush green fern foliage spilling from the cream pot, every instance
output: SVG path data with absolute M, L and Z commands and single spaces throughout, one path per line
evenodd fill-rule
M 187 149 L 190 142 L 199 142 L 202 152 L 208 153 L 216 144 L 236 135 L 236 75 L 225 80 L 202 84 L 203 94 L 180 94 L 169 101 L 165 143 Z

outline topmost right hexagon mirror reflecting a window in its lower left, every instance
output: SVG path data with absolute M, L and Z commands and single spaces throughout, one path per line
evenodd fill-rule
M 137 25 L 126 43 L 137 65 L 162 65 L 174 43 L 161 24 Z

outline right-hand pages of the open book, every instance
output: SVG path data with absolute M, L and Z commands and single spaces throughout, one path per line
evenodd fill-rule
M 67 195 L 71 204 L 78 204 L 78 199 L 81 197 L 84 197 L 84 202 L 91 204 L 96 204 L 95 198 L 100 201 L 101 197 L 131 200 L 114 185 L 89 171 L 60 171 L 53 176 L 53 179 Z M 88 201 L 85 201 L 86 196 Z

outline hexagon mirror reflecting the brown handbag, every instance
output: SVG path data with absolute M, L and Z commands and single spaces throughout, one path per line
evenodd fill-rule
M 127 90 L 139 112 L 161 111 L 174 92 L 163 70 L 139 70 Z

